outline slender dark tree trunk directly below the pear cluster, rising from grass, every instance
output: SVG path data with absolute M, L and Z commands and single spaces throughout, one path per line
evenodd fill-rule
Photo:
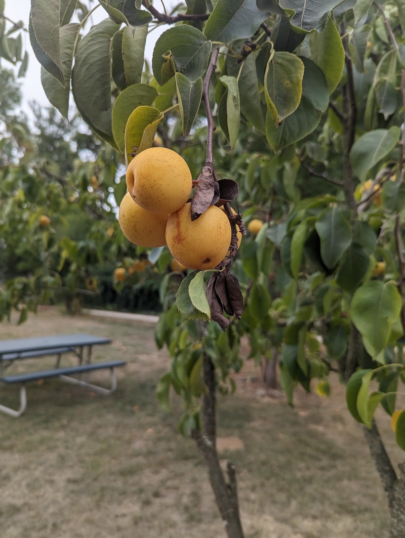
M 235 465 L 228 462 L 227 483 L 216 449 L 215 368 L 208 355 L 204 355 L 204 383 L 207 385 L 208 391 L 203 396 L 202 431 L 194 430 L 192 436 L 204 456 L 205 463 L 207 463 L 211 487 L 228 538 L 244 538 L 239 516 Z

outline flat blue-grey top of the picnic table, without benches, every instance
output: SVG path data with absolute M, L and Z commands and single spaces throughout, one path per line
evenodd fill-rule
M 24 351 L 37 351 L 52 348 L 77 348 L 84 345 L 109 344 L 110 338 L 93 336 L 89 334 L 73 334 L 58 336 L 39 336 L 35 338 L 17 338 L 0 340 L 0 355 L 5 353 L 23 353 Z

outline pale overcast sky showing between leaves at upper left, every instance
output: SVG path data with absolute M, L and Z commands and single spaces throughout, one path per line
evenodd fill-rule
M 169 6 L 174 3 L 174 0 L 169 0 L 168 2 L 165 2 L 168 9 Z M 25 27 L 28 28 L 30 5 L 31 0 L 5 0 L 4 14 L 13 22 L 18 22 L 18 20 L 22 20 L 25 24 Z M 96 5 L 96 3 L 94 3 L 93 5 Z M 94 12 L 92 17 L 92 24 L 96 24 L 100 20 L 108 17 L 108 15 L 100 6 L 100 8 L 98 8 Z M 161 32 L 163 32 L 164 30 L 167 30 L 167 26 L 161 26 L 159 29 L 153 31 L 150 34 L 150 37 L 148 37 L 146 44 L 146 57 L 148 59 L 152 58 L 154 43 L 160 36 Z M 24 32 L 24 45 L 30 55 L 30 61 L 26 76 L 18 79 L 18 81 L 21 84 L 21 89 L 23 93 L 23 108 L 27 113 L 29 113 L 28 104 L 30 101 L 37 101 L 44 106 L 49 106 L 50 104 L 41 86 L 41 69 L 38 60 L 35 58 L 34 53 L 32 52 L 28 32 Z M 5 61 L 2 61 L 2 65 L 3 67 L 10 67 L 10 65 L 8 65 L 8 63 Z

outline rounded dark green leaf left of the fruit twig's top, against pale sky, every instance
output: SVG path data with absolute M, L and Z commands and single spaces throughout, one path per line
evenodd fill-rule
M 169 28 L 158 38 L 152 56 L 152 69 L 160 85 L 167 82 L 162 76 L 162 68 L 168 57 L 174 62 L 177 72 L 190 82 L 196 82 L 204 75 L 211 54 L 211 42 L 193 26 L 181 24 Z M 174 75 L 174 73 L 173 73 Z

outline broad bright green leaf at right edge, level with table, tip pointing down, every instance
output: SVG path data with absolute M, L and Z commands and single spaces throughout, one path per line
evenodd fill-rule
M 366 351 L 374 358 L 389 343 L 390 332 L 399 320 L 402 300 L 393 282 L 371 280 L 353 295 L 350 313 Z

